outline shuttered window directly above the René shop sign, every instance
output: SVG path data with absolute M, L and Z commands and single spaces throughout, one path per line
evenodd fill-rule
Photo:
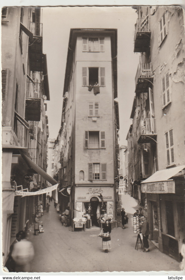
M 107 164 L 106 163 L 89 163 L 88 164 L 88 181 L 107 180 Z

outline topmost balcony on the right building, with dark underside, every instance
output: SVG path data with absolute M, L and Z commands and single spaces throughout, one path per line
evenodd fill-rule
M 150 22 L 148 16 L 137 19 L 134 35 L 134 52 L 148 52 L 150 48 Z

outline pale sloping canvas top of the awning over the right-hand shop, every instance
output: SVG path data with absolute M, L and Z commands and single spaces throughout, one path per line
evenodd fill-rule
M 159 170 L 155 172 L 152 176 L 147 178 L 146 180 L 142 181 L 141 183 L 152 183 L 152 182 L 161 182 L 161 181 L 166 181 L 172 177 L 174 177 L 177 173 L 182 171 L 185 168 L 185 165 L 169 168 L 169 169 L 164 169 L 164 170 Z

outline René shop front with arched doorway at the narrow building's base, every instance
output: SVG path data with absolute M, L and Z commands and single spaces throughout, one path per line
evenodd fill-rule
M 75 218 L 86 216 L 87 227 L 101 227 L 108 217 L 115 220 L 114 188 L 112 186 L 76 186 L 75 187 Z

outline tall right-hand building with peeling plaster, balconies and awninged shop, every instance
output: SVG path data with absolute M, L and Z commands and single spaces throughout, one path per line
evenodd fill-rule
M 140 53 L 126 156 L 129 193 L 144 205 L 150 239 L 180 260 L 184 223 L 184 15 L 181 7 L 140 6 Z

